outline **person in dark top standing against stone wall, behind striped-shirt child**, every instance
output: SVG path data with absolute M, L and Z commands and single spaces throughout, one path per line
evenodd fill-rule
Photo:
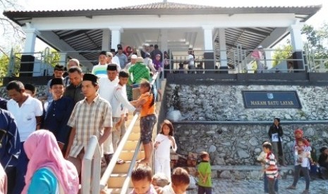
M 281 138 L 283 134 L 284 132 L 282 131 L 282 127 L 280 125 L 280 119 L 274 118 L 274 123 L 270 126 L 268 135 L 271 139 L 272 150 L 277 158 L 277 162 L 283 166 L 286 166 Z

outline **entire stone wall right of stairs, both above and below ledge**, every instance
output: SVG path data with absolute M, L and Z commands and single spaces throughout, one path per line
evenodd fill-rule
M 241 91 L 251 90 L 297 91 L 302 109 L 244 108 Z M 166 84 L 165 97 L 167 110 L 181 112 L 174 124 L 177 152 L 188 155 L 208 151 L 213 165 L 259 165 L 256 157 L 262 151 L 262 141 L 269 139 L 267 131 L 274 117 L 281 118 L 288 164 L 293 164 L 293 131 L 297 128 L 305 131 L 317 150 L 328 145 L 327 124 L 314 124 L 328 120 L 327 86 Z M 193 123 L 199 121 L 224 124 Z

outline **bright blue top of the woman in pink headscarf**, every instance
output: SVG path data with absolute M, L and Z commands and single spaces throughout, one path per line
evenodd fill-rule
M 28 193 L 56 194 L 58 181 L 53 172 L 47 168 L 38 169 L 32 176 Z

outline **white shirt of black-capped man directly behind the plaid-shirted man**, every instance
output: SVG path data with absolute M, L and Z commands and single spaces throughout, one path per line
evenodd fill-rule
M 116 77 L 113 81 L 110 81 L 108 77 L 99 78 L 99 95 L 104 98 L 106 101 L 111 103 L 111 98 L 114 95 L 114 88 L 119 83 L 119 78 Z

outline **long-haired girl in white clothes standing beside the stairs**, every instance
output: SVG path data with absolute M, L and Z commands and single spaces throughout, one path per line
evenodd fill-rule
M 154 157 L 154 172 L 164 173 L 171 181 L 171 167 L 170 167 L 170 148 L 176 151 L 176 141 L 174 140 L 173 124 L 165 119 L 162 123 L 161 132 L 157 135 L 154 143 L 155 157 Z

